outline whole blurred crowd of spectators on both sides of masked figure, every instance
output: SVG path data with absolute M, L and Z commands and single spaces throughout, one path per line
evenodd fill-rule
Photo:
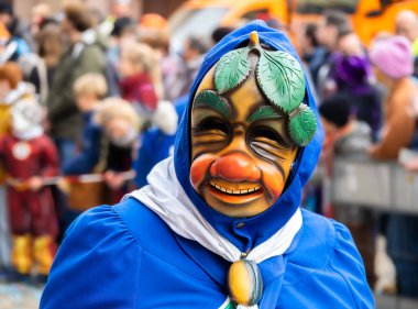
M 299 53 L 326 133 L 304 205 L 358 232 L 377 290 L 418 297 L 418 219 L 333 209 L 316 180 L 332 174 L 337 155 L 396 159 L 418 150 L 418 18 L 403 11 L 393 22 L 396 33 L 377 34 L 371 46 L 342 12 L 326 11 L 304 27 Z M 213 44 L 231 31 L 218 27 Z M 37 4 L 29 24 L 0 1 L 0 276 L 45 280 L 74 219 L 146 185 L 173 153 L 211 46 L 188 37 L 179 54 L 169 47 L 167 21 L 133 19 L 129 1 L 113 1 L 109 16 L 78 1 L 58 14 Z M 418 153 L 408 154 L 403 165 L 418 170 Z

